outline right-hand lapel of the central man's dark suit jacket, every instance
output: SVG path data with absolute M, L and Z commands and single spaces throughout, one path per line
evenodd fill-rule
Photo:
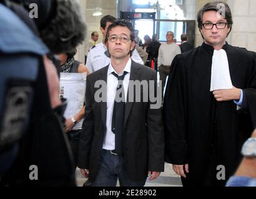
M 137 64 L 134 61 L 132 61 L 132 64 L 130 67 L 130 81 L 139 80 L 139 70 L 140 68 L 137 67 Z M 127 91 L 126 109 L 124 111 L 124 127 L 126 127 L 127 119 L 130 114 L 130 109 L 132 109 L 132 105 L 134 104 L 133 102 L 129 102 L 129 88 L 130 88 L 130 83 Z M 133 101 L 135 101 L 135 96 L 133 98 Z

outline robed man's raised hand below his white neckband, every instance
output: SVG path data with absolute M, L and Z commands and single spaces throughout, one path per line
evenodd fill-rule
M 217 101 L 240 100 L 241 90 L 233 86 L 232 89 L 215 90 L 213 94 Z

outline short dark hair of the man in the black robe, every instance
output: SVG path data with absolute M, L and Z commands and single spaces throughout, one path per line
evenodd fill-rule
M 222 5 L 224 5 L 224 10 Z M 203 23 L 203 15 L 206 11 L 217 11 L 220 13 L 220 15 L 224 16 L 224 19 L 227 19 L 228 26 L 230 27 L 230 32 L 232 29 L 232 13 L 230 10 L 229 5 L 224 1 L 214 1 L 214 2 L 208 2 L 205 4 L 197 13 L 197 22 L 199 29 L 202 29 L 202 23 Z M 224 13 L 222 11 L 225 11 Z M 229 35 L 229 34 L 228 34 Z

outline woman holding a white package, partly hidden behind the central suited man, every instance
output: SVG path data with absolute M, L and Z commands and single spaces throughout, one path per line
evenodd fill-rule
M 65 130 L 71 145 L 76 167 L 79 138 L 85 111 L 85 80 L 90 72 L 84 64 L 75 60 L 74 55 L 76 55 L 76 50 L 72 50 L 71 53 L 59 54 L 59 59 L 61 60 L 60 96 L 61 98 L 63 97 L 67 99 L 67 109 L 64 113 L 64 117 L 66 118 Z

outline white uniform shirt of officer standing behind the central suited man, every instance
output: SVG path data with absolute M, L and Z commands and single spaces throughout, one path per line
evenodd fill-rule
M 107 57 L 105 54 L 106 50 L 107 47 L 102 42 L 91 48 L 86 60 L 86 67 L 90 73 L 96 72 L 96 70 L 109 65 L 111 58 Z M 134 62 L 140 63 L 142 65 L 144 64 L 136 49 L 132 52 L 132 57 L 130 58 Z

